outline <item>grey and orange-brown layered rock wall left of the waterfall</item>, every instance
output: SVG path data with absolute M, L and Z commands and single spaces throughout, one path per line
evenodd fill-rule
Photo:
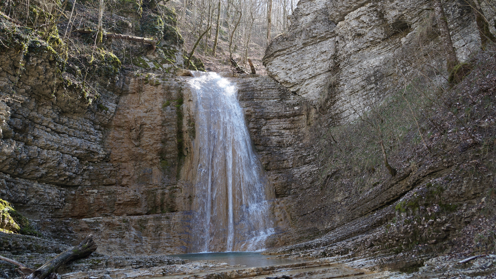
M 184 252 L 190 140 L 178 127 L 191 117 L 181 82 L 125 77 L 120 96 L 102 92 L 81 113 L 32 91 L 2 103 L 2 198 L 69 243 L 92 232 L 105 253 Z

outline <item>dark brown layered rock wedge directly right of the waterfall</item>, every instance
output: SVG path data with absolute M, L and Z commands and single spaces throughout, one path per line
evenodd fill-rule
M 269 77 L 243 79 L 238 88 L 253 144 L 275 195 L 286 197 L 298 187 L 295 175 L 308 164 L 315 110 Z

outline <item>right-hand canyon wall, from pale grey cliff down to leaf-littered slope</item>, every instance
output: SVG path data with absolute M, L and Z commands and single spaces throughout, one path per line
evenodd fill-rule
M 264 57 L 268 74 L 309 102 L 317 117 L 308 128 L 312 144 L 301 157 L 307 163 L 291 178 L 297 186 L 281 198 L 293 230 L 274 243 L 293 245 L 266 254 L 336 261 L 378 257 L 357 267 L 398 269 L 460 251 L 462 242 L 470 243 L 465 251 L 487 247 L 471 237 L 477 226 L 483 239 L 492 237 L 491 223 L 484 220 L 493 213 L 483 212 L 493 205 L 485 203 L 493 201 L 488 193 L 494 177 L 492 171 L 479 172 L 474 162 L 492 170 L 493 155 L 478 157 L 484 139 L 455 139 L 453 133 L 461 129 L 457 125 L 492 119 L 492 112 L 483 116 L 474 110 L 495 65 L 490 53 L 479 52 L 474 9 L 466 1 L 447 1 L 444 10 L 460 65 L 481 65 L 462 84 L 447 82 L 433 2 L 300 0 L 289 31 L 271 41 Z M 494 11 L 486 12 L 493 20 Z M 487 79 L 476 81 L 478 75 Z M 423 98 L 444 103 L 424 106 Z M 465 113 L 449 120 L 458 107 Z M 402 119 L 416 126 L 387 126 Z M 489 135 L 490 126 L 470 133 Z M 381 130 L 386 128 L 393 130 Z M 384 165 L 386 155 L 394 172 Z M 302 242 L 315 235 L 322 236 Z

